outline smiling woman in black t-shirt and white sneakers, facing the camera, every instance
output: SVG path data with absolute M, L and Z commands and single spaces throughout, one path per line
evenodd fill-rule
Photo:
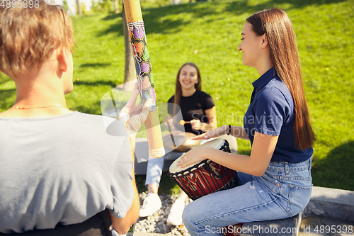
M 180 111 L 181 108 L 183 120 L 190 122 L 184 124 L 185 136 L 189 134 L 189 136 L 195 137 L 207 130 L 217 128 L 215 103 L 209 94 L 202 91 L 200 70 L 193 62 L 183 64 L 178 70 L 175 95 L 171 96 L 168 103 L 169 114 L 171 117 L 176 116 L 176 113 Z M 175 106 L 175 104 L 177 106 Z M 187 136 L 186 139 L 189 136 Z M 182 154 L 183 152 L 175 152 L 171 158 L 177 159 Z M 147 178 L 145 181 L 148 194 L 147 198 L 144 199 L 144 203 L 139 213 L 142 217 L 151 215 L 161 208 L 161 200 L 157 193 L 159 191 L 159 182 L 163 167 L 164 157 L 159 159 L 149 158 L 147 163 Z M 167 223 L 181 225 L 186 198 L 187 195 L 181 190 L 180 195 L 173 203 L 170 210 Z

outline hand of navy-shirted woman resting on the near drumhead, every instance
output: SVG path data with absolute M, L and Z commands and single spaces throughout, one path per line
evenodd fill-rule
M 192 149 L 183 155 L 180 161 L 176 163 L 176 166 L 183 168 L 188 167 L 190 164 L 201 162 L 208 159 L 208 155 L 212 152 L 215 152 L 215 148 L 204 147 L 198 150 Z

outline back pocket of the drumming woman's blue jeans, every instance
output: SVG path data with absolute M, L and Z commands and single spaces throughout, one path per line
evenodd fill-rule
M 311 183 L 311 181 L 309 181 Z M 297 215 L 309 203 L 311 197 L 311 186 L 297 186 L 294 184 L 289 185 L 289 202 L 287 204 L 287 213 L 290 217 Z

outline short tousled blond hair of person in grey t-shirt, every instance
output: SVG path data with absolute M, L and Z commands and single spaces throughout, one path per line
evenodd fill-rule
M 16 3 L 0 8 L 0 69 L 10 77 L 40 69 L 54 50 L 72 51 L 75 44 L 72 21 L 61 6 Z

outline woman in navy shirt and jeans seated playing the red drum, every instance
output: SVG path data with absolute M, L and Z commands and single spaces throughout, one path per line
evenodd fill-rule
M 252 84 L 244 127 L 223 125 L 196 139 L 234 135 L 251 141 L 251 155 L 205 147 L 191 150 L 178 162 L 185 167 L 211 159 L 236 170 L 239 177 L 234 189 L 211 193 L 186 206 L 183 223 L 190 235 L 222 235 L 222 227 L 228 225 L 289 218 L 307 206 L 311 195 L 316 138 L 290 19 L 280 9 L 260 11 L 246 19 L 241 36 L 242 63 L 260 75 Z

